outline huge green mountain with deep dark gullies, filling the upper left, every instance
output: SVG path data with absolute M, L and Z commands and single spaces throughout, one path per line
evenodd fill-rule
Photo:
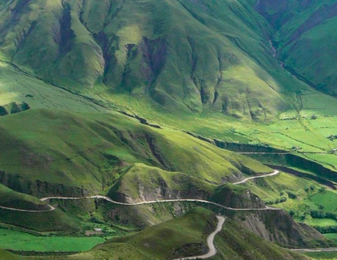
M 0 58 L 74 92 L 264 121 L 307 88 L 247 0 L 3 1 L 0 16 Z

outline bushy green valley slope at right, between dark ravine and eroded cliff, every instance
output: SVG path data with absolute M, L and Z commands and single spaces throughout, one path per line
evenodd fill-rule
M 336 230 L 337 192 L 314 180 L 281 173 L 268 179 L 256 179 L 245 187 L 267 204 L 284 209 L 298 222 L 323 233 Z

